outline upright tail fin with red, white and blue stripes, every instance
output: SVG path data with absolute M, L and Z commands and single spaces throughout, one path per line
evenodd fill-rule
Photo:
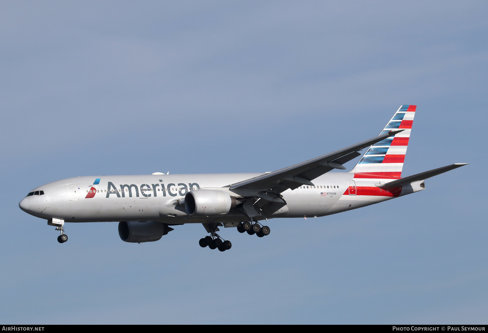
M 392 129 L 405 130 L 370 146 L 358 164 L 350 171 L 355 173 L 355 178 L 401 177 L 416 107 L 415 105 L 402 105 L 395 112 L 380 135 Z

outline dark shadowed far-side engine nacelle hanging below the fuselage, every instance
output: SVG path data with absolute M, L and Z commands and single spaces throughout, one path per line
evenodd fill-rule
M 157 221 L 122 221 L 119 222 L 119 236 L 129 243 L 160 240 L 173 228 L 166 223 Z

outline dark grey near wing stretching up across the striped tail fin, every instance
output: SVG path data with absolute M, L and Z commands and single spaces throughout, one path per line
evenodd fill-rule
M 362 141 L 355 145 L 333 151 L 331 153 L 313 158 L 311 160 L 288 166 L 280 170 L 265 173 L 245 181 L 232 184 L 230 189 L 262 189 L 272 190 L 273 192 L 283 192 L 288 188 L 295 189 L 300 185 L 309 184 L 309 182 L 324 173 L 334 169 L 341 168 L 343 163 L 359 156 L 357 152 L 376 142 L 401 132 L 403 129 L 391 130 L 385 134 L 375 136 L 374 138 Z M 327 162 L 332 162 L 328 164 Z

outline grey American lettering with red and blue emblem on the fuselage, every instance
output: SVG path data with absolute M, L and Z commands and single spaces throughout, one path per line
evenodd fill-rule
M 106 191 L 100 190 L 100 192 L 105 193 L 105 198 L 110 198 L 110 195 L 116 196 L 118 198 L 132 198 L 132 197 L 140 197 L 140 198 L 149 198 L 149 197 L 157 197 L 158 194 L 160 196 L 166 197 L 176 197 L 176 196 L 184 196 L 186 192 L 189 190 L 196 190 L 200 189 L 200 185 L 197 183 L 168 183 L 166 185 L 163 184 L 163 180 L 159 180 L 161 183 L 156 184 L 119 184 L 116 186 L 112 182 L 108 182 Z M 100 178 L 97 178 L 93 185 L 90 185 L 90 189 L 88 190 L 88 194 L 86 195 L 85 199 L 95 197 L 97 194 L 97 185 L 100 184 Z

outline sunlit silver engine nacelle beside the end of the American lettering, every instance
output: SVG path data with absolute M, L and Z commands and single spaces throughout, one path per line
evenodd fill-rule
M 225 191 L 199 189 L 186 193 L 186 213 L 194 216 L 213 216 L 228 213 L 236 206 L 236 198 Z

